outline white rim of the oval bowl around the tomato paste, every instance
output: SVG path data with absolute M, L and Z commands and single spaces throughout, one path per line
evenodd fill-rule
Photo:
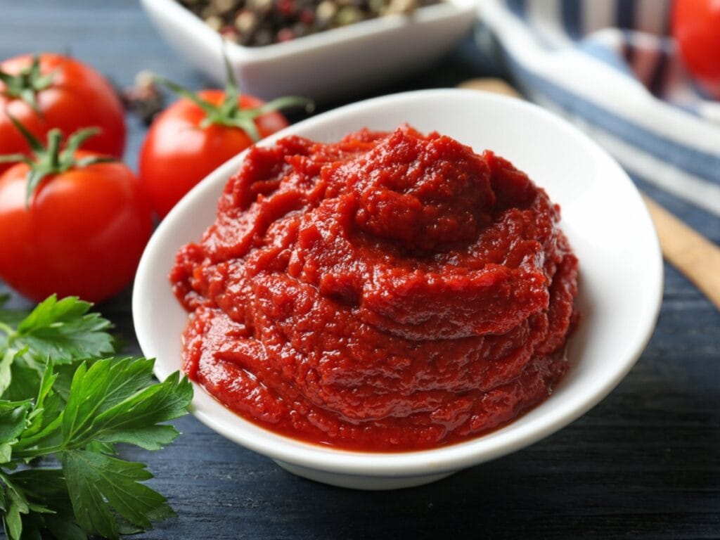
M 603 400 L 603 398 L 606 397 L 614 387 L 616 387 L 621 379 L 625 377 L 632 366 L 634 366 L 652 336 L 655 323 L 657 322 L 657 316 L 660 312 L 663 287 L 663 267 L 660 244 L 657 240 L 657 233 L 655 233 L 647 207 L 645 207 L 642 203 L 640 194 L 629 176 L 606 152 L 606 150 L 600 148 L 600 146 L 591 140 L 588 135 L 585 135 L 585 133 L 581 132 L 577 127 L 571 125 L 570 122 L 563 120 L 552 112 L 542 109 L 535 104 L 508 96 L 500 96 L 498 94 L 490 94 L 476 90 L 430 89 L 379 96 L 362 102 L 348 104 L 287 127 L 271 137 L 264 139 L 261 141 L 261 144 L 268 145 L 274 143 L 274 141 L 278 138 L 286 135 L 292 135 L 297 131 L 310 130 L 313 127 L 322 125 L 326 122 L 331 123 L 333 120 L 341 118 L 346 114 L 361 112 L 367 107 L 387 104 L 395 100 L 408 102 L 408 100 L 423 100 L 433 97 L 453 99 L 454 96 L 460 96 L 463 94 L 466 96 L 472 95 L 474 96 L 473 99 L 488 100 L 491 104 L 496 104 L 498 107 L 516 107 L 521 109 L 522 112 L 541 117 L 544 122 L 550 122 L 559 130 L 568 132 L 573 138 L 576 138 L 579 143 L 585 145 L 588 150 L 592 150 L 598 158 L 605 161 L 606 165 L 610 166 L 615 171 L 617 180 L 620 181 L 626 188 L 629 188 L 629 194 L 631 194 L 631 197 L 636 198 L 636 203 L 639 203 L 638 209 L 640 215 L 638 216 L 638 219 L 644 223 L 647 233 L 650 233 L 650 238 L 647 240 L 652 242 L 652 246 L 648 246 L 648 249 L 654 253 L 654 257 L 648 258 L 649 269 L 652 271 L 650 271 L 648 275 L 644 276 L 649 290 L 652 293 L 652 297 L 649 299 L 649 304 L 645 306 L 645 309 L 642 312 L 644 318 L 642 321 L 639 321 L 639 324 L 637 325 L 638 330 L 636 330 L 633 334 L 632 339 L 629 339 L 627 343 L 624 343 L 622 348 L 618 348 L 618 356 L 624 358 L 625 361 L 618 362 L 615 371 L 611 372 L 611 374 L 604 379 L 601 384 L 596 384 L 595 387 L 590 389 L 592 392 L 583 395 L 582 399 L 576 399 L 571 402 L 564 403 L 564 407 L 562 408 L 555 407 L 545 411 L 544 415 L 541 415 L 539 418 L 535 418 L 531 426 L 528 426 L 527 428 L 519 431 L 513 431 L 512 426 L 515 423 L 513 421 L 507 426 L 500 428 L 498 431 L 491 431 L 486 435 L 469 439 L 469 441 L 449 446 L 441 446 L 436 449 L 376 453 L 346 451 L 332 447 L 309 444 L 266 430 L 255 423 L 244 420 L 240 416 L 237 416 L 237 424 L 227 426 L 222 421 L 214 418 L 212 411 L 209 413 L 206 410 L 198 409 L 196 407 L 198 398 L 194 397 L 191 412 L 202 423 L 231 441 L 241 444 L 253 451 L 257 451 L 259 454 L 269 456 L 271 459 L 297 464 L 310 469 L 320 469 L 341 474 L 356 474 L 373 477 L 388 475 L 393 477 L 410 477 L 438 474 L 440 472 L 451 472 L 463 469 L 465 467 L 489 461 L 490 459 L 495 459 L 551 435 L 555 431 L 559 430 L 559 428 L 567 426 L 567 424 L 579 418 L 581 415 L 585 414 L 588 410 L 597 405 L 598 402 Z M 184 199 L 182 199 L 176 207 L 168 213 L 165 220 L 161 222 L 152 238 L 150 238 L 148 246 L 145 248 L 143 257 L 140 260 L 140 265 L 138 266 L 138 273 L 136 275 L 135 287 L 132 296 L 132 312 L 135 320 L 135 333 L 138 337 L 140 348 L 142 348 L 143 351 L 150 353 L 153 352 L 152 336 L 149 336 L 147 328 L 143 327 L 142 324 L 143 302 L 145 302 L 143 294 L 146 292 L 146 287 L 143 282 L 148 281 L 144 276 L 145 274 L 148 274 L 149 271 L 149 254 L 153 253 L 156 246 L 161 243 L 166 235 L 165 231 L 171 229 L 172 223 L 179 220 L 179 217 L 184 214 L 186 208 L 192 207 L 194 194 L 203 192 L 205 189 L 208 189 L 209 186 L 213 186 L 216 182 L 220 181 L 223 177 L 224 180 L 222 182 L 224 185 L 224 182 L 227 181 L 230 174 L 238 168 L 240 162 L 245 156 L 245 153 L 246 152 L 240 153 L 238 156 L 231 158 L 228 162 L 215 169 L 215 171 L 197 184 L 197 186 L 195 186 L 189 194 L 187 194 L 186 197 L 184 197 Z M 140 316 L 135 314 L 139 314 Z M 150 354 L 148 356 L 153 355 Z M 158 379 L 164 379 L 171 371 L 171 369 L 166 369 L 162 363 L 158 364 L 158 362 L 156 362 L 155 373 Z M 212 410 L 222 408 L 226 411 L 230 411 L 220 402 L 215 400 L 214 397 L 212 397 L 198 384 L 193 384 L 196 396 L 198 394 L 204 395 L 214 402 L 214 405 L 211 406 Z M 548 400 L 552 400 L 552 396 L 549 397 Z M 243 433 L 243 423 L 249 423 L 252 426 L 260 428 L 269 435 L 269 438 L 272 439 L 273 442 L 266 443 L 261 438 L 255 438 L 252 435 L 248 436 L 247 433 Z

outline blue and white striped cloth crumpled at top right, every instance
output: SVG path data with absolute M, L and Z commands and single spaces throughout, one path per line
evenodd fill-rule
M 580 125 L 640 184 L 720 217 L 720 102 L 669 37 L 670 0 L 480 0 L 478 42 L 529 99 Z

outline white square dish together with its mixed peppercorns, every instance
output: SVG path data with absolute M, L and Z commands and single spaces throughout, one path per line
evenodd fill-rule
M 239 9 L 235 0 L 222 1 L 223 10 L 199 7 L 199 16 L 176 0 L 140 3 L 161 36 L 215 81 L 225 81 L 224 53 L 241 91 L 263 99 L 295 94 L 316 102 L 346 100 L 431 66 L 467 35 L 477 11 L 474 0 L 427 6 L 415 0 L 344 5 L 339 0 L 243 0 L 252 7 Z M 413 5 L 420 7 L 406 14 Z M 351 20 L 357 22 L 347 23 Z

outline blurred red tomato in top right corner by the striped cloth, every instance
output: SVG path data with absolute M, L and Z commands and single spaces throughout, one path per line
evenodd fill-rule
M 698 84 L 720 99 L 720 1 L 675 0 L 672 35 Z

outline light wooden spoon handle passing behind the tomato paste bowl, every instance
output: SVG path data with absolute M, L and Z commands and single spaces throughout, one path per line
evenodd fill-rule
M 522 98 L 516 89 L 499 78 L 474 78 L 458 87 Z M 657 202 L 646 195 L 643 199 L 660 238 L 662 255 L 720 310 L 720 248 Z

